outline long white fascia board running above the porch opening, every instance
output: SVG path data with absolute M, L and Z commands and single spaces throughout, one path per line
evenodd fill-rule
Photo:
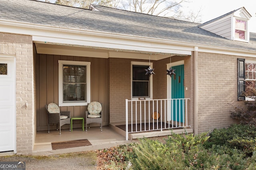
M 1 32 L 31 35 L 41 43 L 80 45 L 105 49 L 125 49 L 152 53 L 176 53 L 191 55 L 191 47 L 178 41 L 154 39 L 134 35 L 105 33 L 82 29 L 70 29 L 48 25 L 0 20 Z

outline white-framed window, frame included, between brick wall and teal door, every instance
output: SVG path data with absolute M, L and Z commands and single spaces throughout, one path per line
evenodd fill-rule
M 131 98 L 153 99 L 153 78 L 152 75 L 146 75 L 149 63 L 147 62 L 131 62 Z M 153 68 L 153 63 L 150 63 Z

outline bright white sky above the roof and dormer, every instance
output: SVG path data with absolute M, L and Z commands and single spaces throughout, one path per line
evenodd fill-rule
M 40 0 L 44 1 L 45 0 Z M 55 0 L 50 0 L 54 3 Z M 256 33 L 256 0 L 190 0 L 190 3 L 183 3 L 184 12 L 197 12 L 201 8 L 201 23 L 210 21 L 233 10 L 244 7 L 252 16 L 248 21 L 250 32 Z

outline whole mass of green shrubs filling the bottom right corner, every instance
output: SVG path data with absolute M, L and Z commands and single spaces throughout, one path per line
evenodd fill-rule
M 126 151 L 126 166 L 128 161 L 132 164 L 126 169 L 254 170 L 254 128 L 231 125 L 226 129 L 214 129 L 210 136 L 207 133 L 172 134 L 166 139 L 166 144 L 148 138 L 139 139 L 140 142 L 132 144 L 129 150 L 122 149 Z

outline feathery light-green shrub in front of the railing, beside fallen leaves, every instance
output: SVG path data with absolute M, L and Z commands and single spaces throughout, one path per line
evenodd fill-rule
M 214 154 L 208 154 L 203 143 L 207 141 L 207 133 L 199 135 L 172 134 L 166 144 L 147 138 L 140 139 L 134 145 L 130 159 L 135 170 L 173 170 L 173 169 L 204 169 L 211 168 L 216 162 Z

